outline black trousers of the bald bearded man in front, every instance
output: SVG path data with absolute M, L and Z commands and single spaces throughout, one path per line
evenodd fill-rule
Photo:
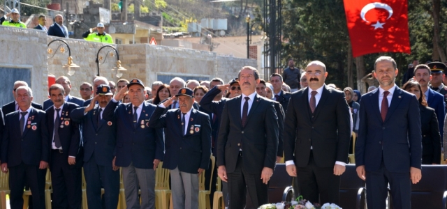
M 340 176 L 334 175 L 333 167 L 317 167 L 311 151 L 307 167 L 297 169 L 298 186 L 303 199 L 311 203 L 339 205 Z

